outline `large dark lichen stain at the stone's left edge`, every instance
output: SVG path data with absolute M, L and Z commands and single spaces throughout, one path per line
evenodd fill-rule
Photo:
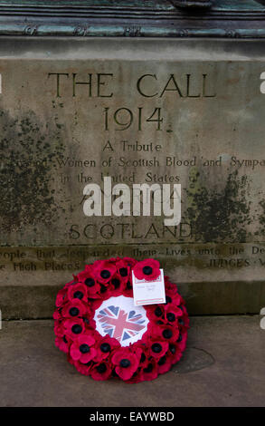
M 49 226 L 60 208 L 52 189 L 52 160 L 64 150 L 61 132 L 33 111 L 20 118 L 0 111 L 0 126 L 0 229 Z

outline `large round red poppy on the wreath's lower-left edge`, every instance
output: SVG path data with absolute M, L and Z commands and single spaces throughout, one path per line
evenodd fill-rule
M 93 347 L 95 339 L 90 334 L 81 334 L 70 348 L 71 358 L 80 363 L 89 363 L 97 355 L 97 350 Z

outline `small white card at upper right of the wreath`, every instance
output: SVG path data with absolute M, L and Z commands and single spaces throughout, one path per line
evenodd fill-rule
M 137 279 L 132 272 L 132 285 L 135 305 L 156 305 L 166 303 L 163 269 L 160 269 L 160 275 L 153 281 Z

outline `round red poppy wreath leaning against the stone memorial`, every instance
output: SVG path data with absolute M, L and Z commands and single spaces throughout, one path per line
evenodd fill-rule
M 180 360 L 189 319 L 176 286 L 165 276 L 166 304 L 133 302 L 132 271 L 152 281 L 159 267 L 154 259 L 97 260 L 59 291 L 55 344 L 80 373 L 136 383 L 156 379 Z

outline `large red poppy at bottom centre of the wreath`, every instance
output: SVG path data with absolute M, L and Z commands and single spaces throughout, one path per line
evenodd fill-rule
M 139 365 L 137 354 L 123 347 L 113 353 L 111 362 L 115 365 L 115 372 L 123 380 L 130 379 Z

